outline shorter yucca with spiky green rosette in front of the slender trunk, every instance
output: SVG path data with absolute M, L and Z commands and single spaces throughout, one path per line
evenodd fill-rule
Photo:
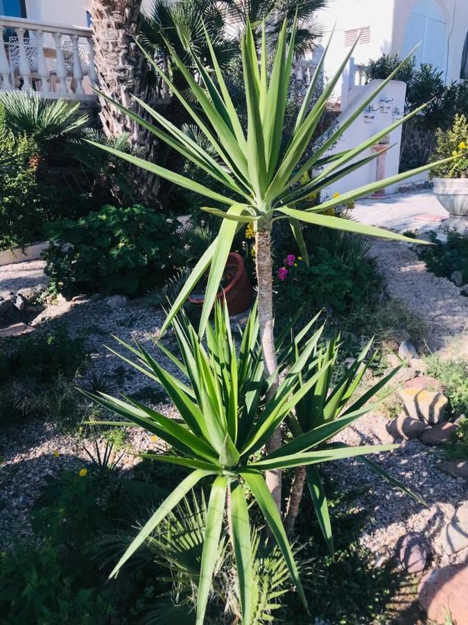
M 104 408 L 126 419 L 123 422 L 103 424 L 136 424 L 146 428 L 172 448 L 167 455 L 148 452 L 146 456 L 155 462 L 170 462 L 191 469 L 189 476 L 184 478 L 141 528 L 111 575 L 116 574 L 132 553 L 148 540 L 159 523 L 187 492 L 204 478 L 211 481 L 198 583 L 198 625 L 202 624 L 207 607 L 225 510 L 229 515 L 229 528 L 234 545 L 243 623 L 252 623 L 252 544 L 246 490 L 257 501 L 259 510 L 281 550 L 297 592 L 304 605 L 306 603 L 291 545 L 288 543 L 275 500 L 263 477 L 266 470 L 313 467 L 338 458 L 365 456 L 397 447 L 363 445 L 340 448 L 326 444 L 331 437 L 383 401 L 381 399 L 377 403 L 365 405 L 391 376 L 384 378 L 356 401 L 349 401 L 361 380 L 362 369 L 359 365 L 365 358 L 363 352 L 358 358 L 358 364 L 345 374 L 343 382 L 338 384 L 338 390 L 331 394 L 331 399 L 317 403 L 316 421 L 311 429 L 293 438 L 280 450 L 261 457 L 261 450 L 272 432 L 286 419 L 291 420 L 291 413 L 301 401 L 309 398 L 312 390 L 315 390 L 315 395 L 319 394 L 319 390 L 323 394 L 325 382 L 329 383 L 328 376 L 333 364 L 329 353 L 333 353 L 334 344 L 325 351 L 318 349 L 323 328 L 306 338 L 310 324 L 297 335 L 293 344 L 286 341 L 287 331 L 283 333 L 277 340 L 275 349 L 284 348 L 284 363 L 291 355 L 294 360 L 285 369 L 281 382 L 275 385 L 275 375 L 264 376 L 255 308 L 245 331 L 241 333 L 239 353 L 232 338 L 227 306 L 221 308 L 218 303 L 215 306 L 215 326 L 207 324 L 206 349 L 187 319 L 173 319 L 182 359 L 177 358 L 160 342 L 157 345 L 179 369 L 185 381 L 180 381 L 159 365 L 139 344 L 132 347 L 119 341 L 136 359 L 127 358 L 111 349 L 125 363 L 164 386 L 180 413 L 180 420 L 166 417 L 129 397 L 116 399 L 105 393 L 93 395 L 85 392 Z M 305 428 L 306 424 L 301 417 L 298 420 Z

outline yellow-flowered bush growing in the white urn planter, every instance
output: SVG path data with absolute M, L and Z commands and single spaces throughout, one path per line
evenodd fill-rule
M 440 178 L 466 178 L 468 173 L 468 122 L 465 115 L 456 115 L 453 126 L 447 131 L 437 130 L 436 160 L 458 156 L 456 160 L 439 165 L 432 170 Z

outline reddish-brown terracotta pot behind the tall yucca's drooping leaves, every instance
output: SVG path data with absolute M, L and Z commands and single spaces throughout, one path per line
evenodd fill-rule
M 223 274 L 227 285 L 216 295 L 216 299 L 226 299 L 229 315 L 239 315 L 247 310 L 252 302 L 252 287 L 245 270 L 242 256 L 235 252 L 229 253 Z M 203 306 L 202 297 L 189 297 L 189 302 Z

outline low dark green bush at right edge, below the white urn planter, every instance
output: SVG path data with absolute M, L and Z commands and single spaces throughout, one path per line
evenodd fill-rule
M 463 283 L 468 282 L 468 237 L 456 230 L 447 233 L 447 242 L 437 239 L 435 232 L 431 233 L 433 245 L 424 246 L 419 253 L 430 272 L 442 278 L 450 278 L 456 271 L 462 272 Z

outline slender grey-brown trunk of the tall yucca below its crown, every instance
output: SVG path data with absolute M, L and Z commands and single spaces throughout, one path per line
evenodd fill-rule
M 255 259 L 257 264 L 257 284 L 259 297 L 259 325 L 260 342 L 263 353 L 263 363 L 265 366 L 265 378 L 268 379 L 277 372 L 278 363 L 275 351 L 275 335 L 273 333 L 273 283 L 272 283 L 272 262 L 271 262 L 271 238 L 270 231 L 263 230 L 255 233 Z M 268 399 L 277 390 L 277 380 L 271 385 L 268 391 Z M 266 444 L 268 453 L 281 447 L 281 428 L 277 428 L 275 433 Z M 266 472 L 266 483 L 275 499 L 276 506 L 281 511 L 281 470 Z

